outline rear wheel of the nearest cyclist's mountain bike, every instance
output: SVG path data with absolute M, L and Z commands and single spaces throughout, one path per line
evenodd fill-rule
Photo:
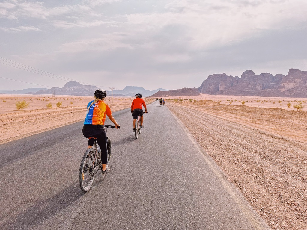
M 85 151 L 79 170 L 79 184 L 82 191 L 87 192 L 95 178 L 95 149 L 89 148 Z

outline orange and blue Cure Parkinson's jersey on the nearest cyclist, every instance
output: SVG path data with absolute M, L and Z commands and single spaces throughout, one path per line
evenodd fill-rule
M 89 102 L 87 108 L 91 105 L 93 101 Z M 98 101 L 91 105 L 88 113 L 86 114 L 84 125 L 104 125 L 106 120 L 106 114 L 111 115 L 111 109 L 109 105 L 104 103 L 104 101 Z

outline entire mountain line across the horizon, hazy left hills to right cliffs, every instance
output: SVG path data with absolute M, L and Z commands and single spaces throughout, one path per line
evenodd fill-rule
M 62 88 L 32 88 L 25 90 L 4 91 L 4 94 L 52 94 L 91 96 L 97 86 L 86 86 L 79 82 L 67 82 Z M 290 69 L 287 75 L 261 73 L 255 75 L 251 70 L 244 71 L 241 77 L 223 74 L 209 75 L 198 88 L 182 88 L 179 90 L 146 90 L 137 86 L 126 86 L 123 90 L 113 90 L 115 97 L 132 97 L 141 93 L 143 97 L 165 98 L 169 96 L 194 96 L 199 94 L 262 96 L 262 97 L 307 97 L 307 71 Z M 107 91 L 108 95 L 112 92 Z

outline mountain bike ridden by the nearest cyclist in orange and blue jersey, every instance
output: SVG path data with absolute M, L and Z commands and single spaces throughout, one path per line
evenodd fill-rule
M 115 128 L 115 125 L 105 125 L 106 128 Z M 111 139 L 107 137 L 107 166 L 111 158 Z M 95 174 L 102 170 L 101 165 L 101 150 L 94 138 L 94 145 L 85 151 L 80 164 L 79 170 L 79 184 L 82 191 L 87 192 L 94 181 Z

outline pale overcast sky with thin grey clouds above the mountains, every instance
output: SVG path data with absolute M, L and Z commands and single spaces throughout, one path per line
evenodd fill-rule
M 0 90 L 286 75 L 307 71 L 306 38 L 306 0 L 0 0 Z

